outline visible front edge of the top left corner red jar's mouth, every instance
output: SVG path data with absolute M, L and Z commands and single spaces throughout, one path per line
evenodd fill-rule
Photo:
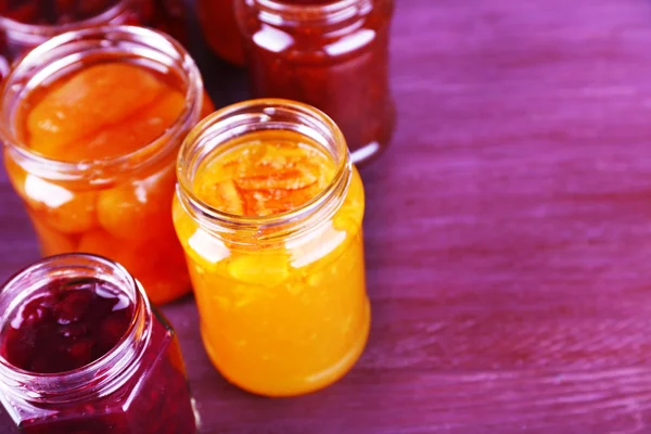
M 131 0 L 106 0 L 105 5 L 97 8 L 91 13 L 84 14 L 79 20 L 65 23 L 40 24 L 11 18 L 4 13 L 0 15 L 0 28 L 10 34 L 20 35 L 24 42 L 39 43 L 43 38 L 51 38 L 59 34 L 94 27 L 112 23 L 114 20 L 128 12 Z M 9 11 L 8 11 L 9 12 Z

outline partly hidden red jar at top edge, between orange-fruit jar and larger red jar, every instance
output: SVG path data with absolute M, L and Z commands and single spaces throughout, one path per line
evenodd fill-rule
M 213 51 L 237 66 L 244 66 L 244 47 L 235 21 L 234 0 L 196 0 L 196 16 Z

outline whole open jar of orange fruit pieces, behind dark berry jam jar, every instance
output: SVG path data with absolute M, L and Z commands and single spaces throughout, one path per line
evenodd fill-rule
M 42 255 L 108 257 L 154 303 L 188 293 L 170 209 L 178 150 L 202 111 L 213 107 L 196 65 L 155 30 L 66 33 L 16 64 L 2 89 L 0 136 Z

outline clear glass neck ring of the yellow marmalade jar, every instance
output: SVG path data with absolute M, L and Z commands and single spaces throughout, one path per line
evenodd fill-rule
M 229 151 L 229 144 L 241 137 L 269 130 L 298 132 L 318 143 L 332 158 L 336 174 L 320 194 L 295 209 L 267 217 L 226 214 L 194 194 L 194 177 L 207 157 Z M 324 113 L 289 100 L 251 100 L 214 113 L 190 132 L 179 153 L 177 196 L 202 228 L 224 240 L 258 246 L 273 244 L 329 221 L 345 199 L 352 167 L 343 133 Z

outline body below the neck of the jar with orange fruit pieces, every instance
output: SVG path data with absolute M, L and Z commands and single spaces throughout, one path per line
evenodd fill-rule
M 39 176 L 10 148 L 4 166 L 25 204 L 42 256 L 93 253 L 124 264 L 163 304 L 190 292 L 186 260 L 174 233 L 173 157 L 149 170 L 124 174 L 108 186 Z

